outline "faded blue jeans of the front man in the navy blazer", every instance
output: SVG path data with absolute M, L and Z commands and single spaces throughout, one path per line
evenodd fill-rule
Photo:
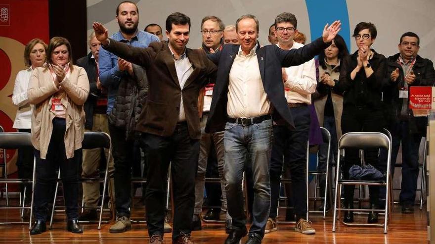
M 245 228 L 243 211 L 242 178 L 246 158 L 251 160 L 254 179 L 254 205 L 250 233 L 261 238 L 270 209 L 269 162 L 272 147 L 272 120 L 242 126 L 226 123 L 223 138 L 225 148 L 225 191 L 228 213 L 232 217 L 232 229 Z

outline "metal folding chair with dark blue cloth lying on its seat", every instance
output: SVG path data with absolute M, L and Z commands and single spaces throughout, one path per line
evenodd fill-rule
M 344 223 L 348 226 L 383 226 L 384 233 L 387 234 L 387 224 L 389 220 L 389 209 L 390 209 L 390 164 L 391 164 L 391 140 L 390 138 L 379 132 L 349 132 L 343 135 L 339 140 L 338 150 L 343 150 L 345 148 L 354 149 L 369 149 L 369 148 L 384 148 L 388 149 L 388 159 L 387 159 L 387 177 L 382 180 L 350 180 L 343 179 L 343 174 L 341 174 L 340 169 L 340 157 L 337 160 L 337 174 L 335 182 L 335 197 L 334 197 L 334 218 L 332 232 L 335 232 L 336 220 L 337 220 L 337 210 L 350 210 L 350 211 L 378 211 L 384 212 L 384 224 L 361 224 L 361 223 Z M 386 186 L 386 201 L 385 209 L 347 209 L 347 208 L 337 208 L 340 204 L 340 196 L 342 185 L 377 185 Z

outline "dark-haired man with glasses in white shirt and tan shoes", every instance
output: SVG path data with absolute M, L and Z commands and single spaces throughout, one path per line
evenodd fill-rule
M 275 33 L 278 38 L 276 44 L 279 48 L 290 50 L 303 47 L 304 44 L 293 40 L 297 32 L 298 21 L 294 14 L 284 12 L 276 16 Z M 280 176 L 283 162 L 285 168 L 290 169 L 292 175 L 291 198 L 294 211 L 287 209 L 286 221 L 293 221 L 296 214 L 295 230 L 303 234 L 314 234 L 315 230 L 306 220 L 306 149 L 308 142 L 311 94 L 316 91 L 316 70 L 314 59 L 299 66 L 282 69 L 284 94 L 288 107 L 292 112 L 295 129 L 289 130 L 283 125 L 273 127 L 273 145 L 270 159 L 270 188 L 271 201 L 270 213 L 267 220 L 265 233 L 276 231 L 276 217 L 279 200 Z M 284 161 L 283 161 L 284 160 Z

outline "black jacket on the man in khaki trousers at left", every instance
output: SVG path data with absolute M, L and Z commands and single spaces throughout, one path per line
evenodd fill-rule
M 89 96 L 84 105 L 85 109 L 85 129 L 92 130 L 93 125 L 93 111 L 97 104 L 100 90 L 97 88 L 97 66 L 95 59 L 91 58 L 92 53 L 77 60 L 77 66 L 83 67 L 87 72 L 87 79 L 89 80 Z

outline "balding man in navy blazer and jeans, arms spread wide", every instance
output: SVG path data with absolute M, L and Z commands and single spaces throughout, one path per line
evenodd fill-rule
M 225 244 L 239 243 L 248 234 L 241 187 L 247 164 L 252 165 L 255 196 L 246 244 L 260 244 L 264 236 L 270 209 L 272 116 L 276 123 L 295 128 L 284 97 L 281 67 L 311 60 L 331 44 L 340 25 L 335 21 L 329 28 L 325 26 L 322 38 L 302 48 L 283 50 L 276 45 L 260 47 L 258 19 L 243 15 L 236 21 L 240 45 L 224 45 L 221 51 L 208 55 L 218 70 L 205 131 L 225 130 L 225 191 L 232 217 Z

